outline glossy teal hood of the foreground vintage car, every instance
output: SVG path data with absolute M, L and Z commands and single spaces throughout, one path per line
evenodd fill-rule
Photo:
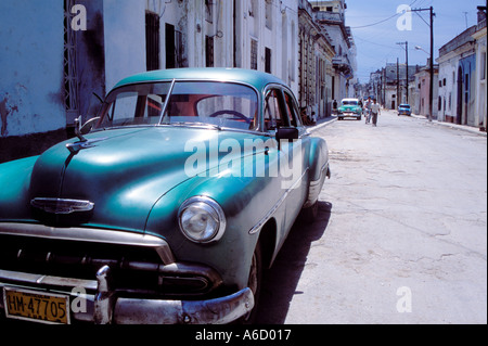
M 254 136 L 231 134 L 237 141 Z M 87 201 L 94 205 L 89 213 L 62 217 L 68 222 L 144 230 L 151 208 L 162 196 L 183 181 L 216 167 L 222 155 L 231 155 L 211 149 L 229 136 L 213 129 L 153 127 L 95 132 L 87 136 L 87 149 L 75 152 L 66 145 L 76 140 L 63 142 L 37 159 L 30 178 L 29 201 Z M 188 169 L 189 158 L 195 155 L 196 148 L 205 150 L 200 152 L 204 165 L 198 166 L 200 170 L 195 165 Z M 218 154 L 206 155 L 207 150 Z M 62 217 L 56 216 L 55 220 Z

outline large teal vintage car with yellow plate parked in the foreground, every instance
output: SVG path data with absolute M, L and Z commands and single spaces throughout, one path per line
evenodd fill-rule
M 0 165 L 0 311 L 53 323 L 252 321 L 329 153 L 265 73 L 139 74 L 77 138 Z

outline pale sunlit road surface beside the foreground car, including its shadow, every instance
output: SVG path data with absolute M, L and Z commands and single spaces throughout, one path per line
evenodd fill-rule
M 332 179 L 266 272 L 259 323 L 487 323 L 487 138 L 335 121 Z

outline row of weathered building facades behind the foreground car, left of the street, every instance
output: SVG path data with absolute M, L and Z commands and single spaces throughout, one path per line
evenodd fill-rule
M 0 139 L 69 128 L 93 115 L 92 92 L 144 71 L 268 72 L 317 117 L 354 75 L 350 33 L 334 49 L 306 0 L 3 0 L 0 13 Z

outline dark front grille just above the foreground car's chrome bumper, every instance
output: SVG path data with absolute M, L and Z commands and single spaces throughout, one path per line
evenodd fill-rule
M 164 264 L 153 247 L 0 234 L 2 270 L 93 280 L 103 266 L 125 296 L 201 296 L 221 282 L 210 268 Z

